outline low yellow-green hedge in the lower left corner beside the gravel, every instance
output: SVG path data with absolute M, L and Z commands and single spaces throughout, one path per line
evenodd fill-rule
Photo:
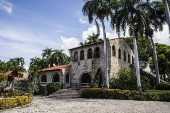
M 18 106 L 23 106 L 31 103 L 32 95 L 25 94 L 22 96 L 14 96 L 0 99 L 0 109 L 8 109 Z

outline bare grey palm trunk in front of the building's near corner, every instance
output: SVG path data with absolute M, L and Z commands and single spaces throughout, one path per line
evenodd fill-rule
M 103 28 L 103 38 L 104 38 L 104 61 L 105 61 L 105 87 L 109 88 L 109 68 L 108 68 L 108 48 L 107 48 L 107 38 L 104 20 L 101 19 Z

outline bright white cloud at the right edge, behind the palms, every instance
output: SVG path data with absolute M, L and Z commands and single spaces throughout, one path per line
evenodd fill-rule
M 170 34 L 168 25 L 163 26 L 163 31 L 154 33 L 154 41 L 157 43 L 170 45 Z

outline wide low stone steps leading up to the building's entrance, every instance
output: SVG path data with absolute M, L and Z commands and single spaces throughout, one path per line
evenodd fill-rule
M 74 90 L 74 89 L 61 89 L 47 97 L 48 98 L 57 98 L 57 99 L 80 98 L 80 91 Z

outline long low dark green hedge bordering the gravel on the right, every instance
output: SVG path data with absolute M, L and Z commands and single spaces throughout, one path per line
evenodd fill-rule
M 81 91 L 81 97 L 170 102 L 170 91 L 148 91 L 139 93 L 135 90 L 89 88 Z

